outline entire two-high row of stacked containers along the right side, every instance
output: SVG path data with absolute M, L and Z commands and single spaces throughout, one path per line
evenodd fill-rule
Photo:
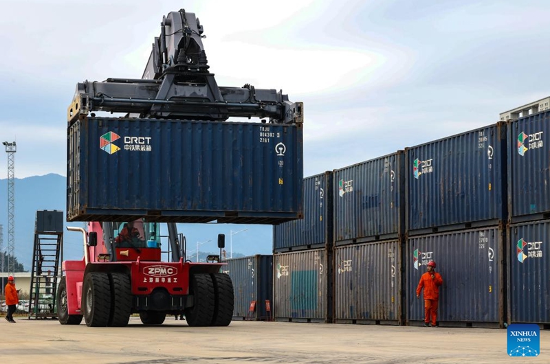
M 274 251 L 295 251 L 275 257 L 276 316 L 419 324 L 435 260 L 442 326 L 549 325 L 549 123 L 529 115 L 305 179 L 306 220 L 274 229 Z M 333 209 L 316 195 L 331 184 Z

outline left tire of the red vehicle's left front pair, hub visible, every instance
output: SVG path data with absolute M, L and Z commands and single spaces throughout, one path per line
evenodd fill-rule
M 87 326 L 104 327 L 111 317 L 111 285 L 107 273 L 88 273 L 84 277 L 82 306 Z

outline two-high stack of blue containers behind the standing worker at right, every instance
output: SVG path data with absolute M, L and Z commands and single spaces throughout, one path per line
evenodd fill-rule
M 416 288 L 430 260 L 443 277 L 440 324 L 503 324 L 506 126 L 407 148 L 408 323 L 423 321 Z M 487 228 L 478 230 L 472 227 Z M 444 234 L 442 231 L 454 231 Z M 427 234 L 427 235 L 426 235 Z M 472 264 L 472 262 L 476 262 Z

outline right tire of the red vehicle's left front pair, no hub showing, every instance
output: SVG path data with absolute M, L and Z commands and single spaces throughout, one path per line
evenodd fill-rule
M 124 327 L 132 312 L 132 286 L 130 276 L 124 273 L 109 273 L 111 286 L 111 317 L 109 326 Z

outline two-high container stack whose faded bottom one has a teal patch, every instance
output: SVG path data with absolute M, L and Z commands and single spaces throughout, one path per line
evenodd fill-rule
M 332 320 L 333 175 L 304 179 L 304 218 L 274 227 L 274 318 Z

